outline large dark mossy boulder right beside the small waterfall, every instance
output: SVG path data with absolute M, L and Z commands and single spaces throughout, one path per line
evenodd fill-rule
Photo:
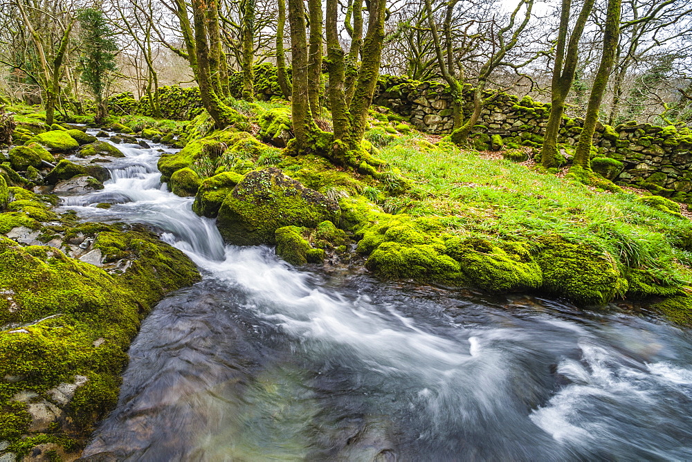
M 226 242 L 242 246 L 276 243 L 284 226 L 315 228 L 338 223 L 338 203 L 270 167 L 246 174 L 221 204 L 217 226 Z

